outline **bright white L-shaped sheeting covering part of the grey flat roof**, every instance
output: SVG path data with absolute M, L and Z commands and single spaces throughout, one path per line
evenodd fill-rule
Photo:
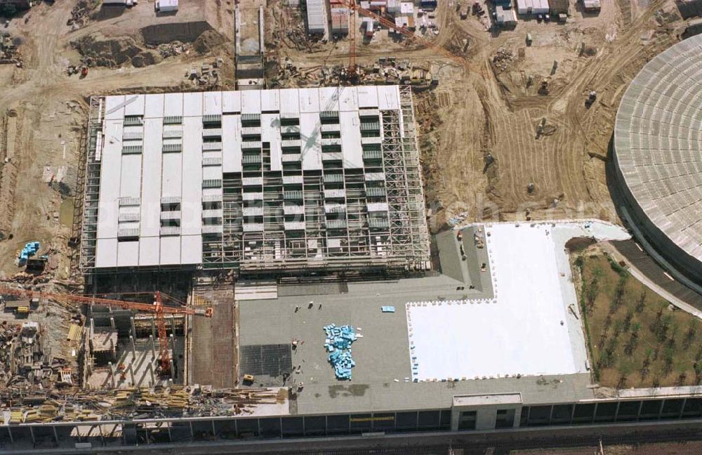
M 413 379 L 587 371 L 564 246 L 573 237 L 628 239 L 628 233 L 601 222 L 498 223 L 485 230 L 495 297 L 410 303 Z

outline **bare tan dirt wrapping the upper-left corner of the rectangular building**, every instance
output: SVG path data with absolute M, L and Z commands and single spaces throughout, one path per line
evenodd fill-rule
M 91 95 L 196 90 L 197 86 L 184 77 L 187 70 L 220 56 L 225 67 L 220 72 L 219 86 L 233 86 L 231 46 L 224 44 L 212 51 L 183 53 L 142 68 L 92 67 L 84 79 L 67 75 L 67 66 L 76 64 L 79 58 L 71 41 L 96 32 L 117 37 L 119 30 L 125 37 L 135 37 L 141 27 L 157 22 L 152 3 L 140 2 L 120 15 L 88 22 L 77 30 L 67 25 L 77 0 L 58 1 L 53 6 L 42 3 L 11 20 L 5 28 L 22 40 L 19 51 L 23 67 L 0 65 L 0 232 L 5 237 L 0 241 L 0 278 L 18 272 L 14 258 L 30 240 L 41 242 L 40 254 L 51 251 L 55 278 L 67 279 L 70 275 L 70 256 L 75 251 L 67 247 L 67 240 L 81 152 L 79 138 Z M 197 8 L 179 12 L 177 20 L 206 19 L 231 42 L 231 0 L 207 1 L 204 12 L 194 10 Z M 8 126 L 13 128 L 10 132 Z M 8 153 L 13 156 L 4 162 Z

